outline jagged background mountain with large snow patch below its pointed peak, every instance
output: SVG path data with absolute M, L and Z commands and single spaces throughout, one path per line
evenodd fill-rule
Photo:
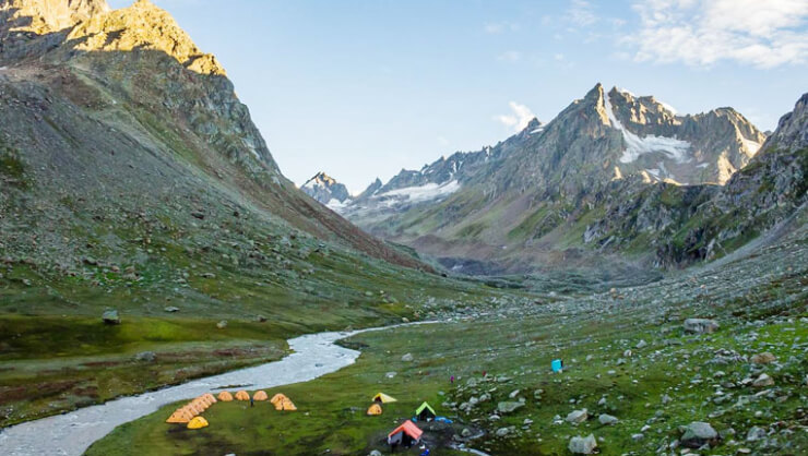
M 597 84 L 546 125 L 536 122 L 490 149 L 455 154 L 458 161 L 468 157 L 478 166 L 436 179 L 437 188 L 456 182 L 448 195 L 380 204 L 401 191 L 401 180 L 429 181 L 439 160 L 402 172 L 343 213 L 458 271 L 479 261 L 512 272 L 678 264 L 690 260 L 664 253 L 664 233 L 687 220 L 685 206 L 720 193 L 764 141 L 732 108 L 677 116 L 653 97 L 606 93 Z M 633 235 L 603 229 L 619 224 L 630 224 Z

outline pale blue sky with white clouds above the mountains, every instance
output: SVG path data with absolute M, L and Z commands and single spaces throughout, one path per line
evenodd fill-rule
M 152 1 L 224 64 L 286 177 L 353 193 L 598 82 L 764 131 L 808 91 L 806 0 Z

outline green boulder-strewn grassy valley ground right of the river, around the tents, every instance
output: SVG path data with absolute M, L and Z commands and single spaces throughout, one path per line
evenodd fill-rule
M 803 224 L 805 225 L 805 224 Z M 684 331 L 711 319 L 713 334 Z M 367 454 L 416 407 L 433 454 L 464 443 L 489 454 L 569 454 L 593 434 L 601 454 L 804 454 L 808 451 L 808 236 L 716 268 L 583 298 L 515 304 L 491 298 L 440 324 L 367 333 L 344 343 L 357 363 L 312 382 L 268 391 L 299 411 L 216 404 L 211 425 L 165 423 L 177 405 L 117 428 L 90 455 Z M 413 360 L 404 361 L 411 353 Z M 771 353 L 754 357 L 756 355 Z M 754 357 L 754 358 L 753 358 Z M 406 357 L 408 359 L 409 357 Z M 550 372 L 560 358 L 565 371 Z M 450 381 L 454 377 L 454 382 Z M 770 380 L 769 380 L 770 379 Z M 399 399 L 368 417 L 371 397 Z M 575 421 L 575 410 L 580 422 Z M 601 418 L 616 420 L 603 424 Z M 568 420 L 569 418 L 569 420 Z M 684 439 L 709 423 L 711 440 Z M 413 454 L 419 451 L 413 449 Z

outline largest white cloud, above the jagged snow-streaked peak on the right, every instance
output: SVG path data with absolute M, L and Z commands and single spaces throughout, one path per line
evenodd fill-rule
M 808 61 L 806 0 L 644 0 L 641 28 L 622 39 L 634 59 L 757 68 Z

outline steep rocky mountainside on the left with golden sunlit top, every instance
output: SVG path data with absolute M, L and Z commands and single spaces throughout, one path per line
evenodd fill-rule
M 161 199 L 216 211 L 221 203 L 204 202 L 211 196 L 229 200 L 234 207 L 253 206 L 312 236 L 416 265 L 321 209 L 280 173 L 222 67 L 165 11 L 139 1 L 51 32 L 106 5 L 40 1 L 33 3 L 38 8 L 23 2 L 27 7 L 15 10 L 16 3 L 4 7 L 14 11 L 12 22 L 25 22 L 20 15 L 29 13 L 38 25 L 4 44 L 0 55 L 2 108 L 10 119 L 2 127 L 3 142 L 24 155 L 37 199 L 78 197 L 85 201 L 85 212 L 111 204 L 131 205 L 127 211 L 136 213 L 136 206 Z M 36 15 L 51 12 L 51 4 L 69 5 L 74 14 L 66 16 L 70 20 L 62 13 L 59 20 Z M 96 168 L 88 169 L 91 164 Z M 174 221 L 192 219 L 183 217 Z

